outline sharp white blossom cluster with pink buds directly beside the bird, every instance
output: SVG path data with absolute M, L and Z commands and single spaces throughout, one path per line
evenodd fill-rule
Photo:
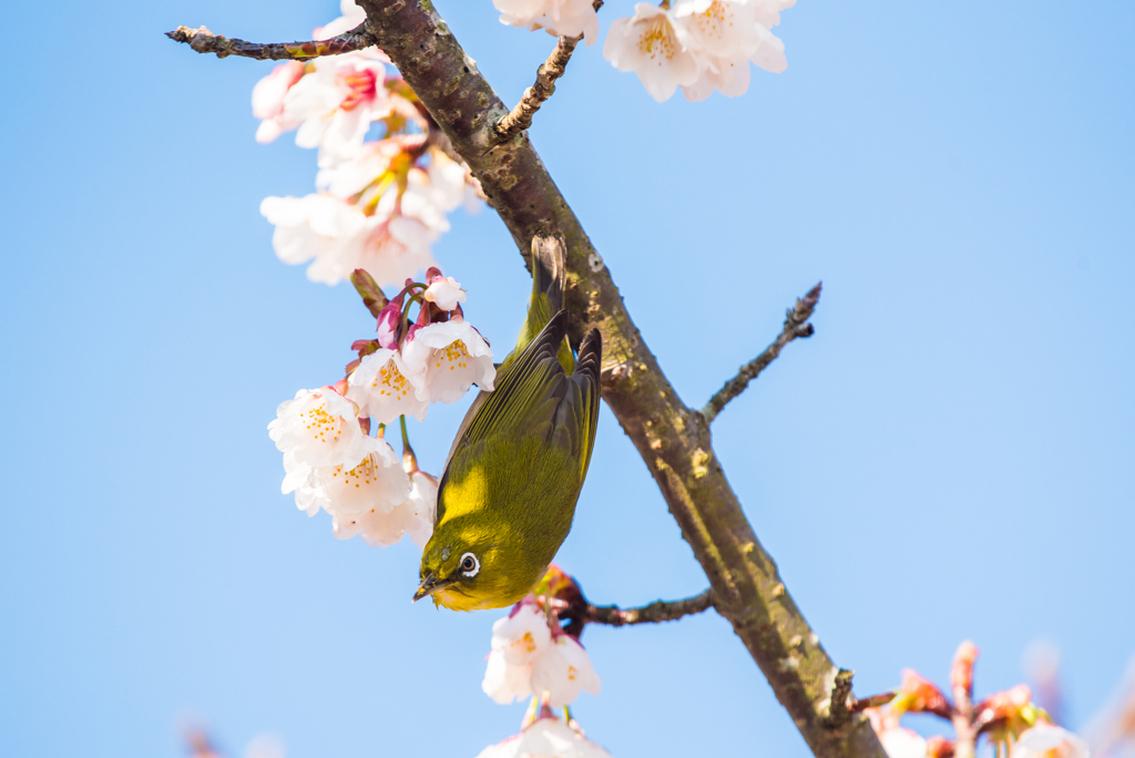
M 387 546 L 410 534 L 424 546 L 434 530 L 437 479 L 418 469 L 405 436 L 398 460 L 382 436 L 385 426 L 402 416 L 405 435 L 405 415 L 421 420 L 430 403 L 454 403 L 473 384 L 493 389 L 493 352 L 464 319 L 465 292 L 436 268 L 427 279 L 407 283 L 380 311 L 378 338 L 355 343 L 361 357 L 347 365 L 345 379 L 301 389 L 268 424 L 284 454 L 281 490 L 295 492 L 308 515 L 328 512 L 339 539 L 359 534 L 371 546 Z M 411 325 L 413 303 L 419 312 Z M 372 437 L 375 424 L 379 435 Z

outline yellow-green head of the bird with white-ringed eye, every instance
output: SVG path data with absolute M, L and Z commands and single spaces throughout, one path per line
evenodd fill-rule
M 453 610 L 481 610 L 519 603 L 532 589 L 545 566 L 527 566 L 520 545 L 508 549 L 506 531 L 482 534 L 471 527 L 454 519 L 434 531 L 414 600 L 429 596 Z

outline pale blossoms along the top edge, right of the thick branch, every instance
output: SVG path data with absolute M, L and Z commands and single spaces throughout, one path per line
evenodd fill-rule
M 595 42 L 599 23 L 592 0 L 494 0 L 501 22 Z M 733 98 L 749 89 L 749 62 L 780 74 L 784 43 L 772 33 L 796 0 L 663 0 L 639 2 L 634 15 L 611 25 L 604 57 L 634 71 L 650 96 L 669 100 L 678 87 L 687 100 L 714 90 Z

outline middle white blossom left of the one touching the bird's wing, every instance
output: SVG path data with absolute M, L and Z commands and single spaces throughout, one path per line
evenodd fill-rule
M 390 423 L 400 415 L 426 418 L 429 399 L 415 391 L 424 384 L 424 367 L 410 364 L 402 351 L 381 348 L 362 359 L 347 378 L 347 397 L 359 405 L 363 416 L 377 423 Z

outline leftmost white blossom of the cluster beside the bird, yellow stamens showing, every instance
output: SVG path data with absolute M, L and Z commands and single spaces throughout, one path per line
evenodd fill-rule
M 330 388 L 301 389 L 276 409 L 268 436 L 294 468 L 354 465 L 364 453 L 358 409 Z

